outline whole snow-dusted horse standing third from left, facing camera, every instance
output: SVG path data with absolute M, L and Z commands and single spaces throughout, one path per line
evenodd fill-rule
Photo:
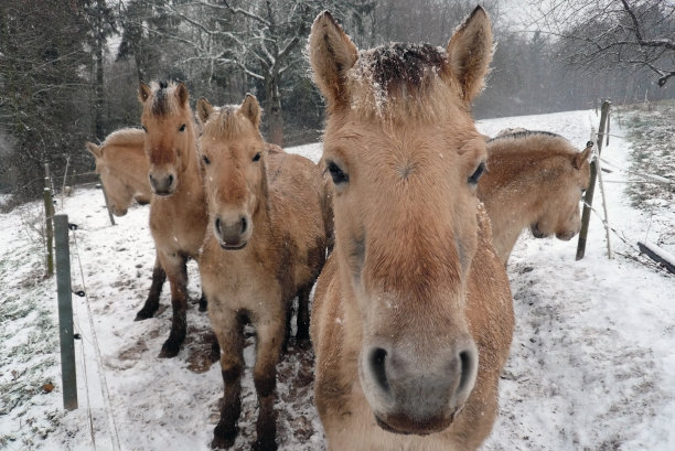
M 323 178 L 303 157 L 262 151 L 254 96 L 217 110 L 200 99 L 197 115 L 204 124 L 199 142 L 210 214 L 200 271 L 225 385 L 212 447 L 232 447 L 237 436 L 243 326 L 250 322 L 257 333 L 253 376 L 259 406 L 254 449 L 276 450 L 276 364 L 288 305 L 297 293 L 300 312 L 307 312 L 325 259 Z M 309 337 L 308 331 L 306 313 L 297 336 Z

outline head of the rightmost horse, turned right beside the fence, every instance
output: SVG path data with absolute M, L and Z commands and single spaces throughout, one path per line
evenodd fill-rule
M 590 147 L 583 152 L 568 158 L 564 172 L 551 186 L 551 193 L 544 213 L 529 229 L 536 238 L 555 235 L 558 239 L 569 240 L 581 229 L 581 208 L 579 201 L 590 181 Z

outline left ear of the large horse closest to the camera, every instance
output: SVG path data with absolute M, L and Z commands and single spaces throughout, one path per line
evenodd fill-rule
M 319 89 L 331 104 L 345 101 L 345 74 L 358 58 L 358 51 L 330 12 L 314 19 L 308 50 Z

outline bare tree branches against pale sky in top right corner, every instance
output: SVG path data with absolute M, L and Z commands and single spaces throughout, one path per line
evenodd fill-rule
M 538 25 L 560 37 L 560 56 L 586 67 L 675 76 L 675 3 L 669 0 L 548 0 Z

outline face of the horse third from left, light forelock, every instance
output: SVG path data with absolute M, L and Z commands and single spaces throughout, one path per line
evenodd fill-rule
M 197 115 L 204 125 L 200 152 L 213 233 L 222 248 L 242 249 L 267 190 L 258 101 L 248 95 L 238 108 L 216 110 L 202 98 Z

